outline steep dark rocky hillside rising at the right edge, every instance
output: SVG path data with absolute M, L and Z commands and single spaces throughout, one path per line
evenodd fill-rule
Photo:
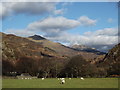
M 120 75 L 120 43 L 109 50 L 103 60 L 97 62 L 109 75 Z

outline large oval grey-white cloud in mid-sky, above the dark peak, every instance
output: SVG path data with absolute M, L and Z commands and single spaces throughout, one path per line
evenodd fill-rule
M 69 30 L 80 25 L 77 20 L 67 19 L 65 17 L 48 17 L 41 21 L 36 21 L 28 25 L 28 30 L 37 30 L 42 32 L 58 33 Z

